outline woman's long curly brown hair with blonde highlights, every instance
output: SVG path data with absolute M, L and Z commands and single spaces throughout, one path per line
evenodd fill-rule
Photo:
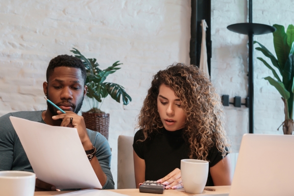
M 138 127 L 145 136 L 141 141 L 163 127 L 157 112 L 161 84 L 169 86 L 182 101 L 186 115 L 183 137 L 190 144 L 189 157 L 207 160 L 208 151 L 214 145 L 225 156 L 230 145 L 224 130 L 221 98 L 210 79 L 194 65 L 173 64 L 153 76 L 138 117 Z

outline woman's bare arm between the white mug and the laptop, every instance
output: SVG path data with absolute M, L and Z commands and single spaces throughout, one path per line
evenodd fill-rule
M 210 168 L 210 174 L 215 186 L 226 186 L 232 183 L 231 157 L 227 154 L 221 161 Z

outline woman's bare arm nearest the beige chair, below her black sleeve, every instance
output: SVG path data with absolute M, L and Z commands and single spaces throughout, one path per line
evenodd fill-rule
M 145 181 L 145 160 L 141 159 L 134 150 L 133 154 L 136 188 L 139 189 L 139 183 L 143 183 Z

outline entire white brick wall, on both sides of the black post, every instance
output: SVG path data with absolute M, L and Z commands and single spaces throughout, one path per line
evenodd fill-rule
M 254 0 L 253 22 L 294 24 L 294 0 Z M 212 81 L 220 95 L 247 95 L 247 36 L 226 26 L 247 20 L 247 0 L 212 0 Z M 46 109 L 42 83 L 49 60 L 79 49 L 95 57 L 101 68 L 117 60 L 122 69 L 107 81 L 125 87 L 133 101 L 123 106 L 106 98 L 110 113 L 112 172 L 117 178 L 117 138 L 133 135 L 136 116 L 151 76 L 173 62 L 189 63 L 190 0 L 10 0 L 0 1 L 0 116 L 8 112 Z M 273 52 L 272 35 L 254 39 Z M 255 132 L 282 134 L 283 103 L 262 79 L 270 71 L 254 51 Z M 243 99 L 244 102 L 244 99 Z M 84 101 L 82 111 L 89 104 Z M 248 109 L 225 107 L 226 130 L 233 151 L 248 130 Z

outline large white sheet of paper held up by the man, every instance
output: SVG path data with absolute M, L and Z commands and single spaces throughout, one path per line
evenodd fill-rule
M 37 178 L 56 189 L 102 188 L 76 128 L 9 118 Z

